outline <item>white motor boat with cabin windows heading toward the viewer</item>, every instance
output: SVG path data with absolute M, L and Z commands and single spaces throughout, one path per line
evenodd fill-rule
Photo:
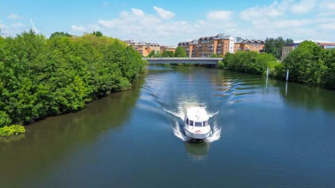
M 192 107 L 187 109 L 185 115 L 185 135 L 192 139 L 206 139 L 212 131 L 208 123 L 209 116 L 204 108 Z

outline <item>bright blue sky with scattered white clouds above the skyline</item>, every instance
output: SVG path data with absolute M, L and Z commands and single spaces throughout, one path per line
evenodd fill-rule
M 2 32 L 12 36 L 33 28 L 47 37 L 56 31 L 99 30 L 122 40 L 166 45 L 217 33 L 335 42 L 335 0 L 0 0 L 0 20 Z

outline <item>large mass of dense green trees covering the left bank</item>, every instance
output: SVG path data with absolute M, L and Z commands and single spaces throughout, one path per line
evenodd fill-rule
M 78 110 L 130 88 L 141 71 L 139 53 L 110 37 L 0 37 L 0 126 Z

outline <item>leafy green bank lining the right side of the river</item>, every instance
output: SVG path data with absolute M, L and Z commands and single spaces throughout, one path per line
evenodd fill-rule
M 268 53 L 252 51 L 228 54 L 218 68 L 252 74 L 266 74 L 279 80 L 286 79 L 289 70 L 289 82 L 310 86 L 335 89 L 335 49 L 322 49 L 311 41 L 304 41 L 293 50 L 282 63 Z

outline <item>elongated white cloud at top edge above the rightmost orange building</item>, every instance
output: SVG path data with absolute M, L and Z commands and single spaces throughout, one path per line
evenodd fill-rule
M 253 20 L 253 19 L 260 19 L 262 17 L 274 18 L 274 17 L 283 16 L 290 2 L 291 2 L 290 0 L 281 1 L 280 3 L 275 1 L 270 6 L 251 7 L 246 10 L 241 11 L 240 17 L 243 20 Z

